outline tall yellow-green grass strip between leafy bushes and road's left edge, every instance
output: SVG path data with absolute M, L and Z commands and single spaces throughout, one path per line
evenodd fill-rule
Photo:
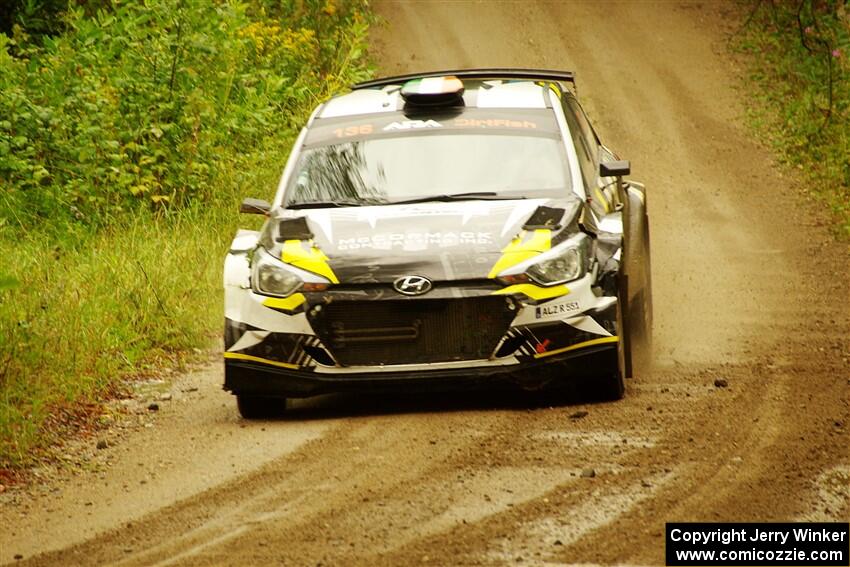
M 0 241 L 19 282 L 0 292 L 0 454 L 26 463 L 55 408 L 208 342 L 227 225 L 212 231 L 193 216 L 137 218 L 79 241 Z

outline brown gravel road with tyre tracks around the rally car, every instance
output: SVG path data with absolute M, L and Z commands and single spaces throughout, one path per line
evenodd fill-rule
M 211 365 L 102 449 L 108 466 L 0 495 L 0 562 L 663 564 L 666 521 L 847 521 L 846 243 L 742 125 L 725 45 L 740 18 L 709 2 L 374 6 L 384 74 L 577 72 L 648 186 L 654 370 L 616 403 L 333 396 L 247 423 Z

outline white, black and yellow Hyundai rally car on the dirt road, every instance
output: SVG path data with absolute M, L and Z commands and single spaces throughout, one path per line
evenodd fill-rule
M 321 104 L 224 268 L 225 380 L 286 398 L 589 382 L 623 395 L 651 331 L 629 163 L 560 71 L 372 80 Z

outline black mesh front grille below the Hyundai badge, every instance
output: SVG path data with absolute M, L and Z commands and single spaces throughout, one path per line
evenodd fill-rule
M 311 312 L 344 366 L 488 358 L 515 312 L 504 297 L 334 301 Z

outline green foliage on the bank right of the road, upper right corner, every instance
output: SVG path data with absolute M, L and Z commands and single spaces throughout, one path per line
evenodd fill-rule
M 850 3 L 753 2 L 738 46 L 753 56 L 753 123 L 850 236 Z

